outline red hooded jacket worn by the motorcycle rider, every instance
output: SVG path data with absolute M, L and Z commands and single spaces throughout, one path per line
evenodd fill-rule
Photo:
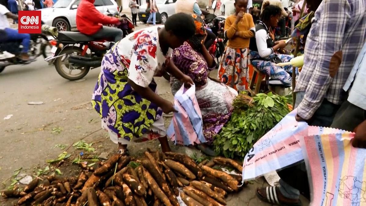
M 102 14 L 94 6 L 95 0 L 81 0 L 78 10 L 76 11 L 76 27 L 79 32 L 86 35 L 97 33 L 103 24 L 115 24 L 119 20 Z

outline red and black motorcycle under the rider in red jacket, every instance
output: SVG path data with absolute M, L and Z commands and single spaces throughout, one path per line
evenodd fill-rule
M 119 16 L 119 13 L 115 16 Z M 123 30 L 123 37 L 133 32 L 130 22 L 126 18 L 126 21 L 117 25 L 117 28 Z M 132 22 L 131 25 L 133 26 Z M 49 65 L 54 64 L 57 73 L 67 80 L 79 80 L 85 77 L 90 69 L 100 67 L 104 54 L 114 44 L 111 39 L 95 39 L 80 32 L 59 32 L 57 39 L 50 43 L 53 46 L 52 56 L 45 60 Z

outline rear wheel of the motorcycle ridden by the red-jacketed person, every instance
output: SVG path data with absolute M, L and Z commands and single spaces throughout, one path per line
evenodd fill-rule
M 59 55 L 63 55 L 63 54 L 66 54 L 65 56 L 61 56 L 59 58 L 57 58 L 55 60 L 55 68 L 56 68 L 56 71 L 57 73 L 60 74 L 61 77 L 67 79 L 67 80 L 71 80 L 71 81 L 74 81 L 74 80 L 79 80 L 83 77 L 85 77 L 85 75 L 89 72 L 90 70 L 90 67 L 82 67 L 82 69 L 79 69 L 81 70 L 80 73 L 78 74 L 75 74 L 75 75 L 72 75 L 71 74 L 71 69 L 69 68 L 70 65 L 68 63 L 68 56 L 70 54 L 81 54 L 82 53 L 82 49 L 79 48 L 79 47 L 67 47 L 67 48 L 64 48 Z M 69 69 L 69 73 L 66 73 L 64 70 L 63 70 L 63 65 L 65 65 L 67 67 L 67 69 Z

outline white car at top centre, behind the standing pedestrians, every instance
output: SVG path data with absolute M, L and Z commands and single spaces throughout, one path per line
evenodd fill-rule
M 159 12 L 156 13 L 156 22 L 165 23 L 168 16 L 175 14 L 175 1 L 176 0 L 156 0 L 156 6 Z M 147 4 L 140 6 L 140 12 L 138 12 L 138 19 L 141 22 L 146 23 L 150 13 L 146 12 Z

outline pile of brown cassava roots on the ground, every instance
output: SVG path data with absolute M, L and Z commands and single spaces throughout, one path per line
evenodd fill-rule
M 216 157 L 197 164 L 184 154 L 149 150 L 135 169 L 130 157 L 115 154 L 99 168 L 83 167 L 79 177 L 49 176 L 34 179 L 23 191 L 8 190 L 5 198 L 20 198 L 18 205 L 65 206 L 187 206 L 226 205 L 225 196 L 239 190 L 242 176 L 212 169 L 217 164 L 242 172 L 232 159 Z

